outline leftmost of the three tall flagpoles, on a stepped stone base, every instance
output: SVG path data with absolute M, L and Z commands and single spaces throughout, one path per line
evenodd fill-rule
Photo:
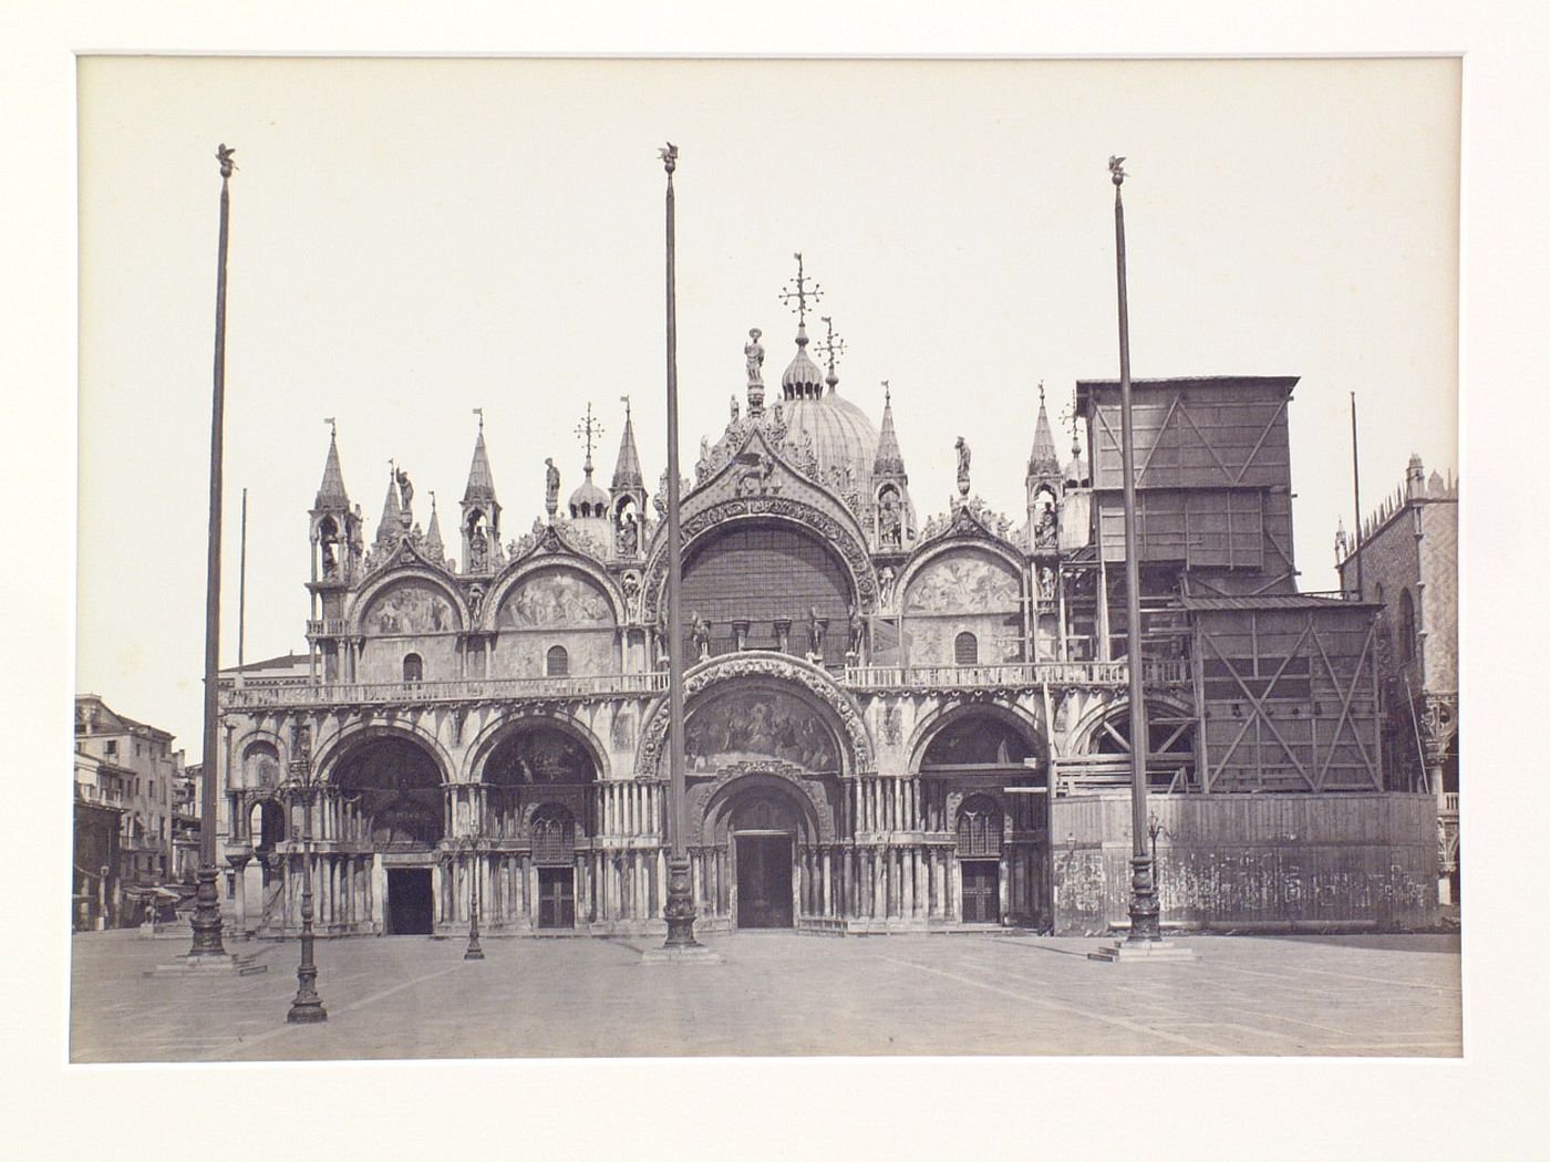
M 209 564 L 205 576 L 205 755 L 200 764 L 198 889 L 194 894 L 194 944 L 189 959 L 225 957 L 220 944 L 220 894 L 215 891 L 215 796 L 220 750 L 220 480 L 222 431 L 226 407 L 226 235 L 231 223 L 234 149 L 215 150 L 220 161 L 220 243 L 215 263 L 215 387 L 209 420 Z

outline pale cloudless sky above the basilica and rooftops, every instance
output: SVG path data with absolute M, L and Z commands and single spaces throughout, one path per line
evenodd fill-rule
M 200 748 L 217 143 L 236 146 L 222 663 L 304 649 L 307 510 L 338 421 L 375 536 L 388 462 L 443 533 L 477 420 L 507 539 L 544 457 L 606 486 L 629 395 L 663 468 L 663 174 L 679 146 L 684 469 L 789 361 L 794 251 L 893 387 L 924 522 L 973 488 L 1020 521 L 1038 384 L 1118 375 L 1110 153 L 1127 156 L 1138 378 L 1297 375 L 1302 587 L 1412 452 L 1457 466 L 1460 67 L 1322 60 L 84 57 L 79 68 L 79 691 Z M 818 325 L 812 328 L 818 330 Z M 1065 446 L 1068 437 L 1059 437 Z M 453 541 L 456 533 L 453 533 Z M 456 547 L 450 544 L 456 555 Z

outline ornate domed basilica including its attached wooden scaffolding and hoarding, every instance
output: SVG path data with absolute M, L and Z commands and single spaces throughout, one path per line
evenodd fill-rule
M 487 934 L 663 931 L 671 649 L 699 933 L 1122 927 L 1118 384 L 1077 384 L 1091 457 L 1029 392 L 1017 519 L 959 440 L 921 521 L 891 401 L 874 425 L 846 400 L 804 322 L 766 392 L 760 339 L 684 486 L 682 641 L 628 404 L 608 488 L 591 449 L 567 499 L 550 465 L 516 536 L 482 421 L 450 536 L 398 473 L 367 541 L 330 440 L 308 651 L 222 680 L 228 927 L 294 934 L 310 852 L 327 934 L 450 936 L 474 908 Z M 1296 590 L 1294 383 L 1136 384 L 1170 925 L 1428 919 L 1435 806 L 1383 786 L 1376 609 Z

